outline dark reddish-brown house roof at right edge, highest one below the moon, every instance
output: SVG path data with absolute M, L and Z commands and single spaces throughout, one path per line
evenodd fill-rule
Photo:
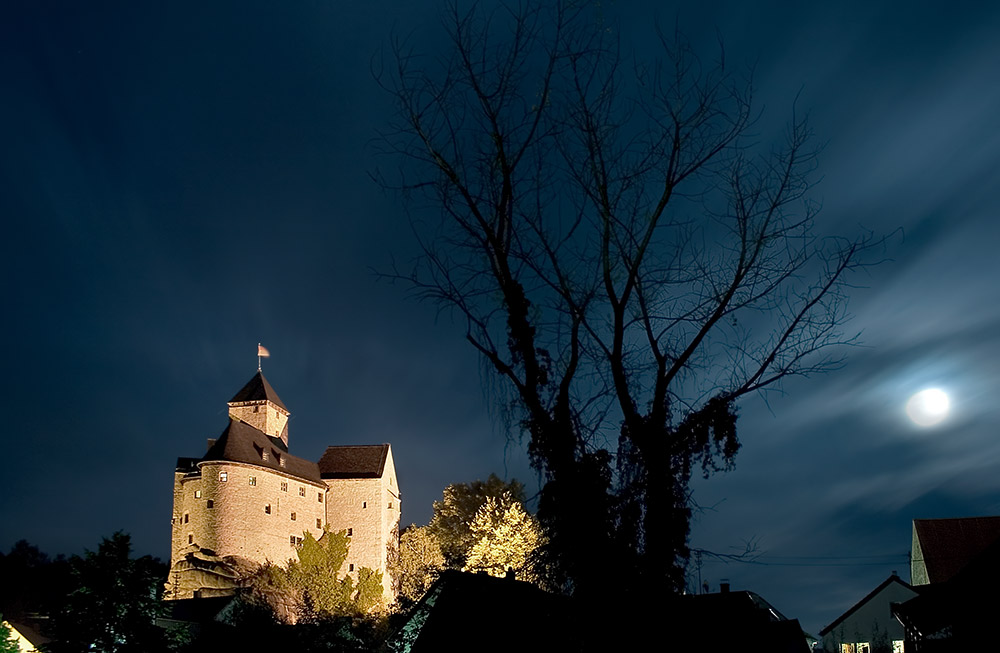
M 943 583 L 952 578 L 972 558 L 1000 539 L 1000 517 L 914 519 L 913 528 L 931 583 Z

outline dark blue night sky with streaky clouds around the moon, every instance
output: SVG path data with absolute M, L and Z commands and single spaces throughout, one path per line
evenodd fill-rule
M 448 483 L 536 489 L 461 325 L 373 273 L 415 244 L 369 177 L 395 165 L 372 62 L 393 32 L 440 47 L 430 3 L 161 4 L 0 8 L 0 550 L 122 529 L 168 558 L 175 459 L 222 431 L 258 341 L 292 452 L 390 442 L 404 524 Z M 817 634 L 908 580 L 912 519 L 1000 514 L 1000 8 L 812 4 L 608 12 L 640 57 L 656 17 L 721 35 L 755 65 L 762 138 L 798 95 L 825 143 L 819 231 L 891 234 L 854 279 L 863 346 L 745 400 L 736 470 L 696 483 L 692 546 L 760 554 L 705 557 L 702 579 Z M 927 387 L 952 412 L 918 428 L 903 408 Z

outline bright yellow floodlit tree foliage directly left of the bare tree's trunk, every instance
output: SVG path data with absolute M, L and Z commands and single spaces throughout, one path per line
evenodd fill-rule
M 504 576 L 513 571 L 519 580 L 537 582 L 535 552 L 544 543 L 538 520 L 509 493 L 488 497 L 469 526 L 475 543 L 469 550 L 465 571 Z

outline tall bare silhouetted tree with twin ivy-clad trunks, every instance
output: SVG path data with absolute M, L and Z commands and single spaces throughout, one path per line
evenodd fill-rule
M 453 309 L 501 380 L 545 481 L 550 580 L 603 592 L 613 559 L 634 572 L 619 591 L 680 591 L 692 469 L 732 466 L 740 397 L 842 363 L 874 243 L 815 235 L 809 129 L 793 115 L 762 154 L 721 47 L 660 34 L 627 64 L 579 3 L 445 23 L 446 57 L 397 42 L 377 73 L 402 162 L 380 178 L 419 207 L 422 256 L 392 276 Z

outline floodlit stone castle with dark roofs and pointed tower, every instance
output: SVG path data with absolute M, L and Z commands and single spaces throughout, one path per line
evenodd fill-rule
M 318 463 L 288 452 L 288 408 L 258 369 L 228 402 L 229 424 L 174 471 L 167 599 L 231 594 L 257 564 L 295 557 L 305 533 L 347 531 L 342 572 L 382 572 L 399 541 L 400 492 L 388 444 L 331 446 Z

